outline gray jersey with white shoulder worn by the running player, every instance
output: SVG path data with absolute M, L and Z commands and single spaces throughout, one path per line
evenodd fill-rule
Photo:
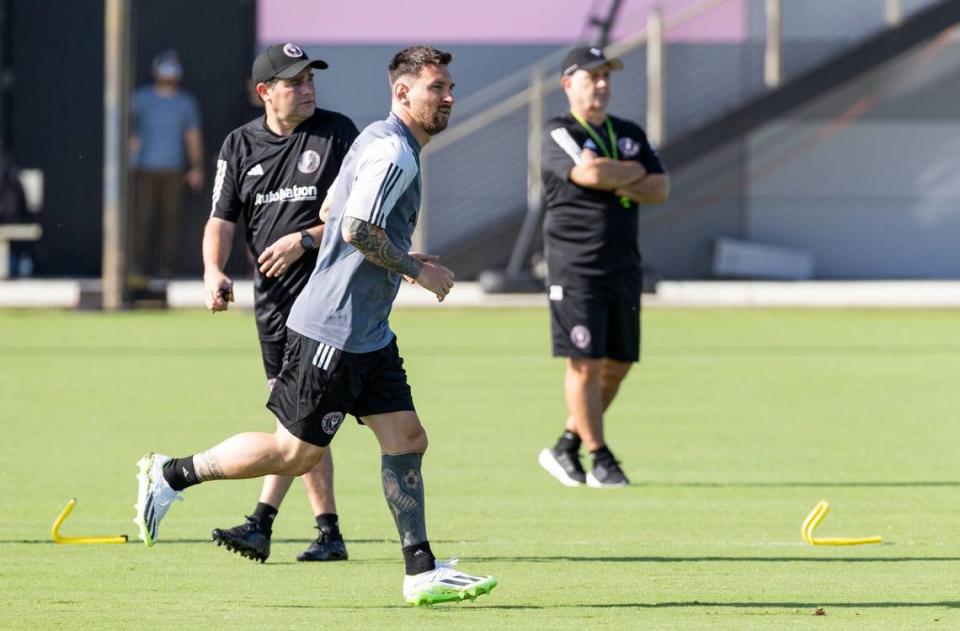
M 401 277 L 343 240 L 343 218 L 383 228 L 408 251 L 420 209 L 420 143 L 394 114 L 373 123 L 350 147 L 330 195 L 317 266 L 287 326 L 335 349 L 369 353 L 393 340 L 387 317 Z

